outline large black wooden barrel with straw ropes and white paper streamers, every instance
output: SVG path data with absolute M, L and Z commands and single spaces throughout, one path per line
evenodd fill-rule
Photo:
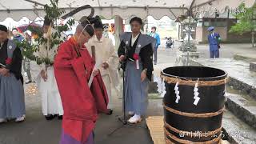
M 223 70 L 175 66 L 162 70 L 166 143 L 219 143 L 226 78 Z

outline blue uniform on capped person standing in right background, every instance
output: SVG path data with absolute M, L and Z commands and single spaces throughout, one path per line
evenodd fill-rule
M 220 35 L 218 33 L 208 35 L 208 42 L 210 45 L 210 58 L 219 58 L 218 38 L 220 38 Z

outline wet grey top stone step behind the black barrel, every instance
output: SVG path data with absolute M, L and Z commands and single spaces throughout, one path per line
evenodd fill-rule
M 229 76 L 229 86 L 235 90 L 241 90 L 256 100 L 256 78 L 249 70 L 249 63 L 234 61 L 230 58 L 216 59 L 190 59 L 192 66 L 210 66 L 225 70 Z

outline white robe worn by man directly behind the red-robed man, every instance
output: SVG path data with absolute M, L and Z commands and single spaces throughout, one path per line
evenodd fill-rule
M 95 46 L 95 61 L 96 62 L 107 62 L 109 67 L 105 70 L 102 66 L 99 67 L 99 70 L 102 74 L 103 82 L 106 86 L 106 91 L 109 96 L 109 106 L 112 108 L 112 95 L 111 89 L 117 90 L 119 86 L 119 74 L 118 74 L 118 54 L 114 49 L 114 45 L 110 38 L 102 37 L 99 41 L 96 36 L 90 38 L 89 42 L 86 43 L 86 48 L 92 56 L 91 46 Z

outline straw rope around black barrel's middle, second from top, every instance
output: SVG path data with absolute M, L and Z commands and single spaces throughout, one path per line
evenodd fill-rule
M 179 110 L 174 110 L 174 109 L 170 108 L 169 106 L 166 106 L 165 103 L 162 103 L 162 105 L 165 107 L 166 110 L 170 111 L 171 113 L 186 116 L 186 117 L 192 117 L 192 118 L 210 118 L 210 117 L 214 117 L 214 116 L 217 116 L 218 114 L 222 114 L 224 109 L 225 109 L 225 106 L 223 106 L 223 108 L 221 110 L 218 110 L 214 113 L 195 114 L 195 113 L 186 113 L 186 112 L 182 112 L 182 111 L 179 111 Z

